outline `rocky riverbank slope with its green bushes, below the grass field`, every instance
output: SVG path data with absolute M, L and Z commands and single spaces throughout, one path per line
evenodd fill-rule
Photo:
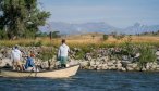
M 0 67 L 7 64 L 12 66 L 10 58 L 12 48 L 3 47 L 0 50 Z M 23 56 L 29 54 L 30 51 L 35 53 L 36 65 L 42 68 L 54 68 L 59 65 L 57 62 L 57 48 L 52 47 L 20 47 Z M 71 50 L 69 57 L 69 65 L 76 63 L 81 64 L 81 69 L 98 69 L 98 70 L 122 70 L 122 72 L 159 72 L 159 62 L 157 61 L 144 61 L 140 62 L 140 57 L 149 55 L 142 55 L 138 48 L 132 50 L 133 55 L 123 52 L 123 48 L 99 48 L 91 49 L 89 52 L 84 53 L 82 49 L 74 48 Z M 136 51 L 135 51 L 136 50 Z M 154 51 L 156 52 L 156 51 Z M 156 53 L 152 53 L 156 55 Z M 156 55 L 157 56 L 157 55 Z M 150 56 L 149 56 L 150 57 Z M 145 60 L 146 60 L 145 58 Z M 26 57 L 23 57 L 25 63 Z

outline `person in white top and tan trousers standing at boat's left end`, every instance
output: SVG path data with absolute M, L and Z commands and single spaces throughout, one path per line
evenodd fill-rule
M 13 69 L 23 70 L 22 66 L 22 52 L 19 50 L 19 47 L 15 46 L 11 52 L 11 58 L 13 61 Z

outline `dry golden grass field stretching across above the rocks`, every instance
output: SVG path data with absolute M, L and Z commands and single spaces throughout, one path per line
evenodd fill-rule
M 66 42 L 73 47 L 77 46 L 87 46 L 87 44 L 120 44 L 127 41 L 129 36 L 124 37 L 123 39 L 114 39 L 112 36 L 109 36 L 108 40 L 102 40 L 102 35 L 100 34 L 88 34 L 88 35 L 74 35 L 64 37 Z M 159 37 L 151 37 L 151 36 L 132 36 L 132 42 L 134 43 L 156 43 L 159 44 Z M 36 42 L 40 42 L 41 46 L 59 46 L 61 43 L 61 38 L 52 39 L 49 38 L 37 38 L 37 39 L 20 39 L 20 40 L 1 40 L 0 46 L 8 46 L 12 47 L 15 44 L 21 46 L 34 46 Z M 33 44 L 34 43 L 34 44 Z

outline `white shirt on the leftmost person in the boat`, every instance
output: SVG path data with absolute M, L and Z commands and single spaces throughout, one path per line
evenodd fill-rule
M 13 61 L 21 61 L 21 57 L 22 57 L 21 51 L 19 49 L 12 50 L 11 57 Z

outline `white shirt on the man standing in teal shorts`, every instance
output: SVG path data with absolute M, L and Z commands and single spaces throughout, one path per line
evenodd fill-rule
M 68 52 L 70 51 L 70 48 L 63 43 L 59 48 L 58 56 L 68 56 Z

